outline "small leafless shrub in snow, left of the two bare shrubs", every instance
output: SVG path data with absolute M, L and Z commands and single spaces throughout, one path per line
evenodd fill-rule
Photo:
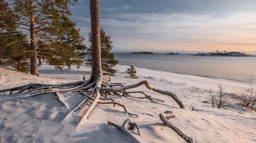
M 219 82 L 218 86 L 218 94 L 211 93 L 209 101 L 212 107 L 222 108 L 228 106 L 230 101 L 227 96 L 227 93 L 224 92 L 225 87 Z

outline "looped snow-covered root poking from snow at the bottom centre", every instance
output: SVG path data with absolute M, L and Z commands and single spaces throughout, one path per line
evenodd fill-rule
M 141 143 L 137 138 L 135 138 L 132 133 L 129 130 L 134 130 L 135 126 L 138 130 L 138 134 L 141 136 L 141 134 L 139 133 L 139 126 L 135 123 L 134 120 L 132 119 L 126 119 L 123 123 L 122 126 L 119 126 L 115 123 L 112 123 L 110 121 L 108 121 L 108 124 L 117 127 L 119 130 L 121 130 L 122 132 L 124 132 L 126 135 L 128 135 L 129 137 L 131 137 L 134 140 L 134 143 Z M 130 125 L 130 128 L 128 130 L 128 125 Z

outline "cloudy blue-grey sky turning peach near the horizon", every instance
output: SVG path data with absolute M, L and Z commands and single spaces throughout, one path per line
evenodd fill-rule
M 256 54 L 256 0 L 101 0 L 112 52 Z M 88 42 L 90 0 L 70 6 Z

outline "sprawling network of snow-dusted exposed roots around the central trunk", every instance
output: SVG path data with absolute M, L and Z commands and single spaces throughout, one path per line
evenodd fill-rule
M 133 97 L 129 94 L 130 93 L 141 93 L 141 94 L 145 95 L 146 99 L 150 100 L 151 102 L 156 102 L 155 100 L 164 102 L 162 100 L 152 98 L 150 95 L 146 95 L 142 91 L 134 91 L 134 92 L 126 91 L 127 89 L 136 88 L 136 87 L 139 87 L 140 85 L 145 85 L 150 90 L 153 90 L 157 93 L 161 93 L 163 95 L 167 95 L 167 96 L 173 98 L 173 100 L 175 100 L 175 102 L 180 106 L 180 108 L 184 108 L 182 101 L 179 100 L 177 95 L 175 95 L 174 93 L 169 92 L 169 91 L 162 91 L 155 87 L 152 87 L 148 84 L 148 82 L 146 80 L 138 82 L 137 84 L 134 84 L 134 85 L 127 85 L 127 86 L 124 86 L 124 84 L 122 84 L 122 83 L 110 83 L 110 82 L 105 82 L 103 80 L 97 80 L 95 82 L 91 82 L 91 80 L 86 80 L 86 81 L 71 82 L 71 83 L 66 83 L 66 84 L 61 84 L 61 85 L 28 84 L 28 85 L 24 85 L 24 86 L 20 86 L 20 87 L 3 89 L 3 90 L 0 90 L 0 93 L 9 93 L 10 95 L 11 94 L 20 94 L 20 93 L 29 93 L 32 97 L 35 97 L 38 95 L 43 95 L 43 94 L 45 95 L 45 94 L 53 93 L 58 98 L 58 101 L 61 102 L 61 104 L 63 104 L 63 106 L 65 106 L 67 109 L 69 109 L 69 106 L 65 102 L 65 100 L 62 99 L 63 97 L 61 96 L 61 94 L 67 93 L 67 92 L 79 93 L 79 94 L 85 96 L 85 99 L 78 106 L 76 106 L 72 111 L 70 111 L 70 113 L 68 113 L 66 115 L 66 117 L 63 119 L 63 121 L 66 121 L 68 118 L 70 118 L 70 116 L 73 115 L 72 114 L 73 112 L 75 112 L 79 108 L 81 109 L 82 104 L 87 105 L 88 108 L 85 109 L 85 113 L 83 115 L 81 115 L 83 117 L 81 118 L 81 120 L 79 121 L 79 123 L 76 126 L 76 128 L 79 128 L 81 126 L 81 124 L 83 124 L 83 122 L 88 119 L 90 113 L 92 112 L 92 110 L 94 109 L 94 107 L 97 104 L 114 104 L 114 106 L 115 106 L 115 104 L 117 104 L 119 106 L 122 106 L 124 108 L 124 111 L 126 113 L 128 113 L 129 115 L 135 115 L 136 117 L 138 117 L 138 115 L 130 113 L 128 111 L 128 108 L 124 104 L 115 102 L 115 100 L 112 98 L 108 98 L 109 95 Z M 88 100 L 91 100 L 91 102 L 87 103 L 86 101 L 88 101 Z M 100 100 L 102 100 L 102 101 L 100 101 Z M 106 101 L 106 100 L 110 100 L 110 101 Z M 169 115 L 171 115 L 171 114 L 169 114 Z M 166 126 L 171 126 L 170 124 L 167 123 L 168 119 L 166 119 L 166 116 L 160 114 L 160 118 L 162 119 L 162 121 L 164 122 L 164 124 Z M 134 127 L 136 126 L 138 129 L 138 134 L 140 134 L 137 124 L 131 119 L 127 119 L 122 126 L 118 126 L 111 122 L 108 122 L 108 123 L 112 124 L 113 126 L 116 126 L 120 130 L 122 130 L 126 134 L 130 134 L 131 136 L 132 136 L 132 134 L 127 130 L 126 127 L 128 125 L 130 125 L 130 128 L 134 129 Z M 176 132 L 178 133 L 181 131 L 176 131 Z M 182 135 L 181 137 L 183 137 L 183 136 L 184 135 Z M 184 139 L 188 140 L 188 138 L 186 138 L 186 137 Z M 136 142 L 139 142 L 139 141 L 136 140 Z

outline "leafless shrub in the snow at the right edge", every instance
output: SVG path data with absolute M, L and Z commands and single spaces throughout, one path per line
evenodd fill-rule
M 234 98 L 238 100 L 239 104 L 251 108 L 256 104 L 256 91 L 253 90 L 252 81 L 255 80 L 252 76 L 247 78 L 249 88 L 236 90 L 234 93 Z

